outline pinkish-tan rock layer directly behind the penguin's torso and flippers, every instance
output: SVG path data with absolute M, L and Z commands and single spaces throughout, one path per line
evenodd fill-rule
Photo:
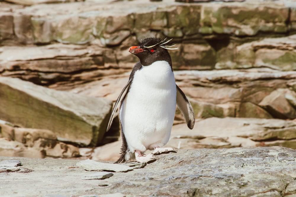
M 260 68 L 174 73 L 176 83 L 189 97 L 196 118 L 296 118 L 296 110 L 293 107 L 293 100 L 296 99 L 293 89 L 296 81 L 295 71 Z M 90 83 L 59 88 L 115 101 L 128 81 L 128 75 L 129 73 L 103 77 Z M 286 93 L 281 94 L 283 91 Z M 274 98 L 275 92 L 279 92 L 282 99 L 264 104 L 268 97 Z M 284 112 L 273 108 L 288 109 L 289 115 L 282 115 Z M 183 120 L 179 110 L 176 111 L 176 120 Z

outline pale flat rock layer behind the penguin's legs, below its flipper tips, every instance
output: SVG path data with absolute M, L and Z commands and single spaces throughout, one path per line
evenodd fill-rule
M 174 125 L 165 147 L 174 149 L 285 146 L 295 149 L 296 122 L 259 118 L 197 119 L 190 130 L 186 123 Z M 117 160 L 121 140 L 94 149 L 94 160 Z M 150 151 L 147 151 L 147 154 Z

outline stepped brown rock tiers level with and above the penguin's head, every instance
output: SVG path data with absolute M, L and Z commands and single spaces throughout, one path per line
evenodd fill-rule
M 4 61 L 2 54 L 0 72 L 38 84 L 83 81 L 110 75 L 104 70 L 108 66 L 130 69 L 137 59 L 128 53 L 128 48 L 149 36 L 174 38 L 179 47 L 178 51 L 171 52 L 175 69 L 294 68 L 295 50 L 293 47 L 285 48 L 285 45 L 293 45 L 287 42 L 294 38 L 285 38 L 287 42 L 284 43 L 268 39 L 258 41 L 259 44 L 250 43 L 260 40 L 262 32 L 270 37 L 293 34 L 295 9 L 283 1 L 186 4 L 173 0 L 141 0 L 32 6 L 0 2 L 0 5 L 0 27 L 3 27 L 0 28 L 0 45 L 6 46 L 0 51 L 5 56 L 26 51 L 22 57 L 18 55 L 8 62 Z M 20 43 L 27 46 L 8 47 Z M 266 48 L 264 43 L 283 46 L 268 49 L 270 46 Z M 44 46 L 29 47 L 40 44 Z M 35 56 L 36 51 L 42 53 L 38 52 L 39 58 Z M 30 60 L 32 65 L 28 65 Z M 56 67 L 48 71 L 48 65 Z M 60 71 L 60 65 L 65 70 Z M 69 70 L 69 65 L 73 65 L 73 70 Z

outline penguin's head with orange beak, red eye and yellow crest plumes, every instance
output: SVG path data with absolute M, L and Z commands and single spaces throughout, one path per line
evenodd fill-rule
M 172 48 L 174 45 L 170 43 L 171 40 L 144 38 L 139 46 L 129 48 L 129 52 L 137 56 L 143 66 L 149 66 L 155 61 L 167 61 L 171 65 L 172 60 L 168 50 L 178 49 Z

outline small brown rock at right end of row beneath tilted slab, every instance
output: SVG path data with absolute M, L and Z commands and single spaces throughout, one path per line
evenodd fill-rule
M 79 149 L 71 144 L 58 142 L 52 149 L 46 149 L 46 155 L 50 157 L 78 157 Z

